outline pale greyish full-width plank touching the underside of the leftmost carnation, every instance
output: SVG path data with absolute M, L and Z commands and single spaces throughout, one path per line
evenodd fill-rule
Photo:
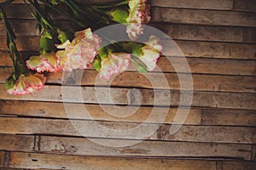
M 87 104 L 115 104 L 115 105 L 139 105 L 142 99 L 142 105 L 160 105 L 169 106 L 170 95 L 171 105 L 179 105 L 179 91 L 174 90 L 149 90 L 149 89 L 132 89 L 131 88 L 111 88 L 110 96 L 108 88 L 96 88 L 97 93 L 101 97 L 96 98 L 95 88 L 92 87 L 65 87 L 62 86 L 62 92 L 75 93 L 81 91 L 79 96 L 65 96 L 65 102 L 69 103 L 87 103 Z M 137 95 L 139 92 L 141 97 Z M 188 92 L 187 92 L 188 93 Z M 169 95 L 170 94 L 170 95 Z M 65 95 L 65 94 L 64 94 Z M 129 99 L 127 99 L 127 95 Z M 156 96 L 154 98 L 154 96 Z M 82 98 L 82 101 L 80 99 Z M 213 107 L 213 108 L 234 108 L 234 109 L 256 109 L 255 94 L 236 94 L 236 93 L 213 93 L 195 91 L 193 94 L 192 106 L 196 107 Z M 59 86 L 44 86 L 43 89 L 33 94 L 23 96 L 14 96 L 6 93 L 4 85 L 0 85 L 0 99 L 15 99 L 15 100 L 34 100 L 34 101 L 52 101 L 63 102 L 61 87 Z M 98 99 L 101 99 L 98 101 Z M 134 100 L 136 99 L 136 100 Z M 183 103 L 183 105 L 186 105 Z

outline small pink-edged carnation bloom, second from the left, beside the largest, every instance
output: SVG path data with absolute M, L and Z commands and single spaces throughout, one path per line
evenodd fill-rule
M 61 66 L 58 65 L 58 58 L 55 56 L 54 52 L 41 54 L 39 56 L 32 56 L 26 61 L 27 68 L 44 72 L 58 72 L 61 71 Z

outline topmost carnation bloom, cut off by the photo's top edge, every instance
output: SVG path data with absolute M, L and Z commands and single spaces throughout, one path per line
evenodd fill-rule
M 139 35 L 143 34 L 143 26 L 148 24 L 150 20 L 150 6 L 146 4 L 147 0 L 130 0 L 129 16 L 126 19 L 126 33 L 131 40 L 135 40 Z

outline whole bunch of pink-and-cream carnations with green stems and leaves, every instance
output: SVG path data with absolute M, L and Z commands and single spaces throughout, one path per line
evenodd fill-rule
M 73 0 L 24 0 L 40 31 L 38 55 L 24 60 L 15 45 L 15 32 L 4 13 L 4 7 L 13 0 L 0 3 L 0 13 L 7 31 L 7 45 L 13 63 L 13 72 L 5 81 L 9 94 L 31 94 L 44 88 L 45 72 L 87 69 L 93 65 L 102 79 L 126 71 L 134 63 L 137 71 L 153 71 L 162 46 L 158 37 L 148 42 L 135 42 L 143 34 L 143 25 L 150 20 L 147 0 L 124 0 L 112 5 L 87 4 Z M 61 14 L 76 24 L 80 31 L 56 26 L 51 12 Z M 111 42 L 93 33 L 104 26 L 119 23 L 131 41 Z M 104 42 L 110 42 L 103 46 Z

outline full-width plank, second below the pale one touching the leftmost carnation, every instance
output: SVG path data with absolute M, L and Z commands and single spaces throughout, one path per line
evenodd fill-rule
M 127 122 L 96 122 L 73 120 L 51 120 L 35 118 L 0 117 L 0 133 L 9 134 L 48 134 L 78 136 L 88 138 L 112 138 L 112 139 L 141 139 L 138 133 L 149 134 L 155 124 L 147 124 L 146 128 L 131 133 L 128 130 L 140 126 L 139 123 Z M 107 134 L 102 133 L 99 123 L 106 127 Z M 101 126 L 100 126 L 101 127 Z M 230 144 L 254 144 L 256 142 L 255 127 L 211 127 L 211 126 L 186 126 L 183 125 L 177 133 L 170 134 L 171 125 L 161 125 L 160 130 L 145 139 L 209 142 Z M 91 131 L 89 129 L 95 129 Z M 98 130 L 97 130 L 98 129 Z M 111 132 L 112 130 L 124 131 L 122 135 Z

